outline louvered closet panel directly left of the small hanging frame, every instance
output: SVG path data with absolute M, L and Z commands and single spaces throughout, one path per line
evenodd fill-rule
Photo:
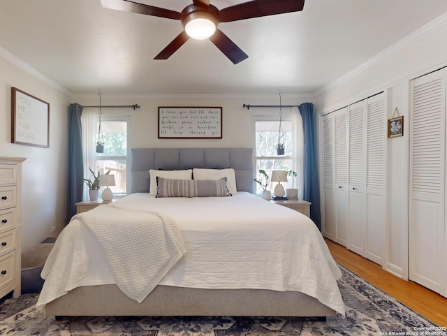
M 365 254 L 383 265 L 386 250 L 385 94 L 367 98 Z

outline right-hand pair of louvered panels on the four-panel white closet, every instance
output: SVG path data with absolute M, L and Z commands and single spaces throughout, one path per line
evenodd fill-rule
M 349 105 L 347 247 L 383 265 L 386 242 L 385 94 Z

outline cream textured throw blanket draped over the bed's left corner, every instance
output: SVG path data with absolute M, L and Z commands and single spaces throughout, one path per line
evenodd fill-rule
M 73 219 L 82 221 L 96 236 L 117 286 L 138 302 L 186 253 L 175 222 L 155 212 L 101 206 Z

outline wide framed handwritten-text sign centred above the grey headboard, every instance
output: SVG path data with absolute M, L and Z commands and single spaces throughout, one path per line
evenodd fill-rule
M 159 138 L 222 138 L 222 108 L 159 107 Z

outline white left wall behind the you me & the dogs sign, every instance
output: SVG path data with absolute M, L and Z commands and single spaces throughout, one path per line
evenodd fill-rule
M 22 251 L 64 225 L 66 213 L 67 110 L 70 98 L 0 57 L 0 156 L 22 164 Z M 50 103 L 50 148 L 11 143 L 11 87 Z

